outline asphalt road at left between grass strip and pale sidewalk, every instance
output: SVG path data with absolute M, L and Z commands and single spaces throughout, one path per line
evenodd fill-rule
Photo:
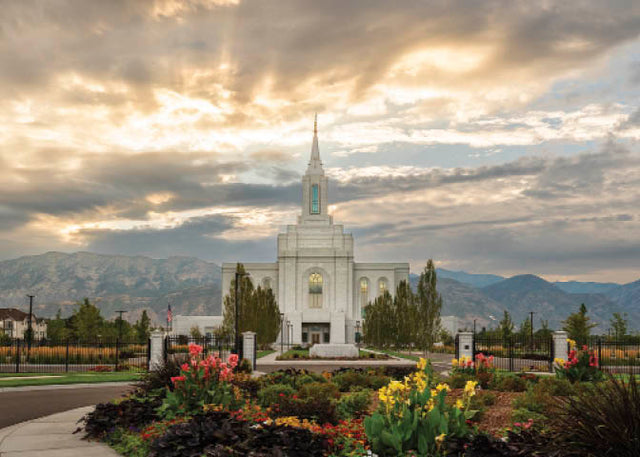
M 129 390 L 130 383 L 120 382 L 0 389 L 0 428 L 79 406 L 103 403 Z

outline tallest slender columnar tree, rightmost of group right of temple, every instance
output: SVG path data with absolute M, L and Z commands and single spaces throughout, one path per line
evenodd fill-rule
M 416 343 L 420 349 L 427 352 L 438 339 L 440 331 L 440 310 L 442 296 L 436 289 L 436 267 L 432 259 L 427 261 L 416 290 Z

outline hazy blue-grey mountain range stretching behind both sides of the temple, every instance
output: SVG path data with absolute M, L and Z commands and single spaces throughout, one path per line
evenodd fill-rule
M 625 285 L 551 283 L 530 274 L 505 278 L 445 269 L 437 273 L 442 314 L 458 316 L 469 328 L 474 319 L 479 327 L 497 325 L 504 310 L 516 324 L 533 311 L 535 326 L 548 320 L 551 328 L 560 328 L 581 303 L 598 324 L 596 331 L 607 330 L 613 312 L 627 313 L 631 327 L 640 328 L 640 280 Z M 417 279 L 415 274 L 410 277 L 414 285 Z M 219 315 L 220 283 L 220 267 L 194 257 L 48 252 L 0 262 L 0 307 L 24 309 L 25 296 L 32 293 L 37 316 L 52 317 L 59 309 L 68 316 L 77 301 L 88 297 L 107 318 L 124 309 L 126 318 L 134 321 L 146 309 L 159 324 L 168 303 L 174 315 Z

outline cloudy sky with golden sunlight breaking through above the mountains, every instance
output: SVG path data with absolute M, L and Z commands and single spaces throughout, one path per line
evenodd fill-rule
M 316 112 L 356 261 L 640 278 L 637 1 L 4 0 L 0 259 L 274 261 Z

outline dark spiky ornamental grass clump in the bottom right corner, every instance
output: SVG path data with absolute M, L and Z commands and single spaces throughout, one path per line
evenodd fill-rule
M 563 405 L 557 432 L 561 439 L 592 455 L 640 455 L 640 386 L 635 376 L 585 386 Z

